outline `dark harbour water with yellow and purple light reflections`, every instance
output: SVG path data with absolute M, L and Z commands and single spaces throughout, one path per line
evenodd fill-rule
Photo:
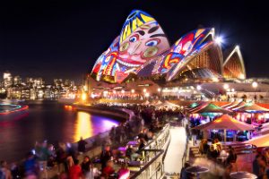
M 0 116 L 0 159 L 22 159 L 36 141 L 79 141 L 113 125 L 117 121 L 109 117 L 65 110 L 56 102 L 29 105 L 26 111 Z

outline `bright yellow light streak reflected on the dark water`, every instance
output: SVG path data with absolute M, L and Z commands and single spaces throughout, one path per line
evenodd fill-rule
M 82 111 L 77 113 L 76 123 L 74 124 L 74 141 L 79 141 L 81 137 L 86 139 L 93 135 L 91 123 L 91 115 L 89 113 Z

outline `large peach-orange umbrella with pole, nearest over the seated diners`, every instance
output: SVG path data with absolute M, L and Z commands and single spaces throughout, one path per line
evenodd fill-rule
M 232 118 L 230 115 L 221 115 L 212 122 L 195 126 L 193 129 L 202 131 L 213 129 L 224 130 L 224 142 L 226 142 L 227 129 L 235 131 L 251 131 L 254 130 L 254 127 L 250 124 L 239 122 L 238 120 Z

